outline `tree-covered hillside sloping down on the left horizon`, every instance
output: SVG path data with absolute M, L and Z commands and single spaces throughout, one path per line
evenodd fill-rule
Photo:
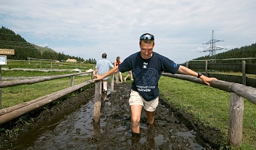
M 7 55 L 8 59 L 26 60 L 27 58 L 50 59 L 66 61 L 68 58 L 76 59 L 78 62 L 96 64 L 95 58 L 84 58 L 66 55 L 63 52 L 55 52 L 47 47 L 35 46 L 27 42 L 20 34 L 15 34 L 10 28 L 0 28 L 0 49 L 15 49 L 15 55 Z

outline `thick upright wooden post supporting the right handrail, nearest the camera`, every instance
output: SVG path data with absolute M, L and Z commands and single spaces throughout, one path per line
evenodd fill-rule
M 227 142 L 230 145 L 240 145 L 242 142 L 242 115 L 244 110 L 244 98 L 230 93 L 230 118 Z

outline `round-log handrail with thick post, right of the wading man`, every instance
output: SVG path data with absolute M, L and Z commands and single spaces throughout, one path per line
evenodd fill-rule
M 166 77 L 174 77 L 181 80 L 188 80 L 194 83 L 203 83 L 197 77 L 190 77 L 182 74 L 166 74 Z M 250 86 L 243 86 L 239 83 L 229 83 L 221 80 L 213 80 L 210 85 L 216 89 L 230 92 L 230 118 L 228 127 L 228 144 L 240 145 L 242 142 L 242 118 L 244 110 L 244 98 L 256 104 L 256 89 Z

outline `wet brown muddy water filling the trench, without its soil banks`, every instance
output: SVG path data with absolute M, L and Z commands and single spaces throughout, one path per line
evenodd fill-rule
M 189 130 L 169 108 L 159 104 L 154 126 L 146 124 L 142 111 L 141 138 L 130 130 L 130 85 L 115 87 L 102 103 L 101 118 L 93 122 L 93 97 L 75 112 L 27 131 L 11 149 L 205 149 L 197 143 L 197 133 Z M 109 93 L 109 92 L 108 92 Z

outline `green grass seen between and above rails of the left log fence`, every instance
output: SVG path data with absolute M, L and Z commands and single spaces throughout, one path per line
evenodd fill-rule
M 23 75 L 23 77 L 36 76 L 51 76 L 61 74 L 71 74 L 67 72 L 40 72 L 40 71 L 3 71 L 3 77 L 14 77 L 15 75 Z M 74 72 L 73 72 L 74 73 Z M 30 76 L 29 76 L 30 74 Z M 15 76 L 16 77 L 16 76 Z M 90 80 L 90 76 L 76 76 L 75 85 Z M 13 86 L 2 89 L 2 108 L 11 107 L 17 104 L 22 104 L 26 101 L 31 101 L 40 98 L 44 95 L 66 89 L 70 86 L 71 77 L 66 77 L 58 80 L 50 80 L 42 83 L 35 83 L 32 85 Z

